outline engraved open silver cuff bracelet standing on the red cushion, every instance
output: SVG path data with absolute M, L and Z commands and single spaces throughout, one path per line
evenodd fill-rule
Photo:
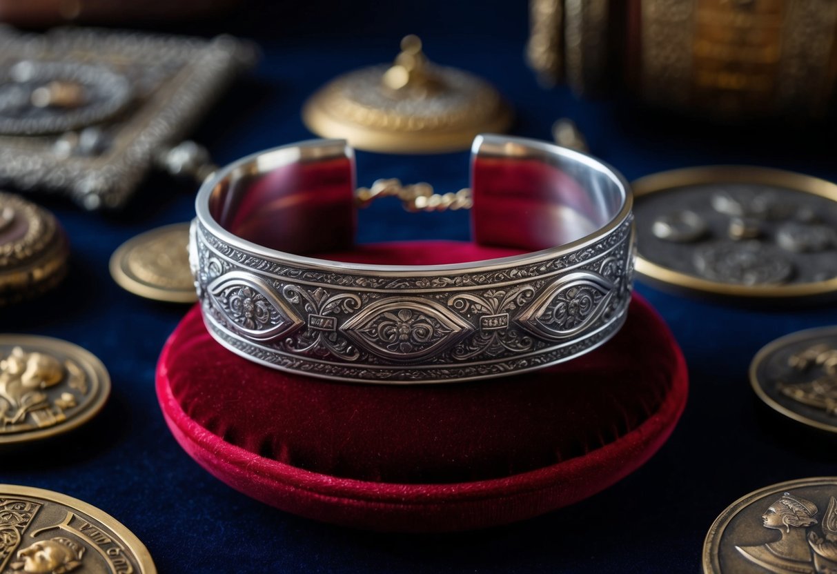
M 477 136 L 467 205 L 462 193 L 421 192 L 413 205 L 470 207 L 476 243 L 530 253 L 420 266 L 316 259 L 352 246 L 352 148 L 304 141 L 224 167 L 198 192 L 189 247 L 208 331 L 266 366 L 376 383 L 525 372 L 619 331 L 634 272 L 619 173 L 546 142 Z

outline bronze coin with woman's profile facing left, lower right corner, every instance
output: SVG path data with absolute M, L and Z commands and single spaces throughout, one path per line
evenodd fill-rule
M 736 500 L 706 535 L 703 571 L 837 571 L 837 477 L 790 480 Z

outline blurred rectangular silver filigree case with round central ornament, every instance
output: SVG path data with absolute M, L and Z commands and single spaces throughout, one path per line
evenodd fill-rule
M 254 61 L 226 36 L 0 27 L 0 184 L 121 208 L 156 163 L 199 171 L 177 144 Z

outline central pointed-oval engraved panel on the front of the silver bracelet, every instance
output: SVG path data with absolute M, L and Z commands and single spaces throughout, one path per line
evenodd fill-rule
M 352 316 L 341 331 L 375 355 L 412 361 L 454 345 L 474 327 L 432 300 L 393 297 Z

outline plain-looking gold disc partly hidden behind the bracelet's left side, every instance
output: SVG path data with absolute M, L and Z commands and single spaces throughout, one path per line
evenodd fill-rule
M 122 243 L 110 257 L 110 274 L 125 290 L 171 303 L 198 300 L 189 269 L 189 224 L 151 229 Z

